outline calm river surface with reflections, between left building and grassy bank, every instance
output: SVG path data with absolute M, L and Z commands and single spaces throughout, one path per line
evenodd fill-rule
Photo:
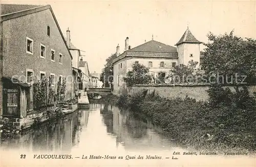
M 71 154 L 74 150 L 97 147 L 100 151 L 160 151 L 170 149 L 172 142 L 160 135 L 149 121 L 136 118 L 133 113 L 116 106 L 103 104 L 90 104 L 89 110 L 78 110 L 57 122 L 46 123 L 1 142 L 2 150 L 33 153 Z

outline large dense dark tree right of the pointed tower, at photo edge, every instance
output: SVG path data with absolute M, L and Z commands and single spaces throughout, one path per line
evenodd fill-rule
M 206 49 L 202 52 L 202 68 L 206 75 L 227 76 L 230 83 L 237 74 L 247 76 L 244 82 L 256 82 L 256 40 L 234 36 L 233 31 L 219 36 L 209 33 L 207 37 L 209 42 L 204 43 Z M 242 80 L 243 77 L 238 77 L 236 83 Z

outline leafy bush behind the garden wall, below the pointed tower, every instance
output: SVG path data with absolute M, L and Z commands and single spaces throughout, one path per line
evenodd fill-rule
M 190 60 L 187 65 L 180 64 L 170 70 L 171 83 L 202 82 L 202 70 L 197 68 L 198 62 Z

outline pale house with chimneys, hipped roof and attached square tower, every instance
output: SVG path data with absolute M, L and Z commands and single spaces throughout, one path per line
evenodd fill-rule
M 126 85 L 123 82 L 127 71 L 132 70 L 134 63 L 140 63 L 150 68 L 153 78 L 152 84 L 168 76 L 170 69 L 176 65 L 185 64 L 190 60 L 200 64 L 200 41 L 198 41 L 187 28 L 176 46 L 152 40 L 145 42 L 133 49 L 129 47 L 129 38 L 125 39 L 125 50 L 120 55 L 119 46 L 116 49 L 117 58 L 113 61 L 114 73 L 114 94 L 127 93 Z M 156 80 L 158 78 L 159 80 Z

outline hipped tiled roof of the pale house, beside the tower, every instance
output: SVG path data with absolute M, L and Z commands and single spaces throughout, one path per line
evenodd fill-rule
M 131 50 L 132 52 L 157 52 L 157 53 L 177 53 L 176 47 L 151 40 L 146 43 L 143 43 L 137 47 L 134 47 Z

